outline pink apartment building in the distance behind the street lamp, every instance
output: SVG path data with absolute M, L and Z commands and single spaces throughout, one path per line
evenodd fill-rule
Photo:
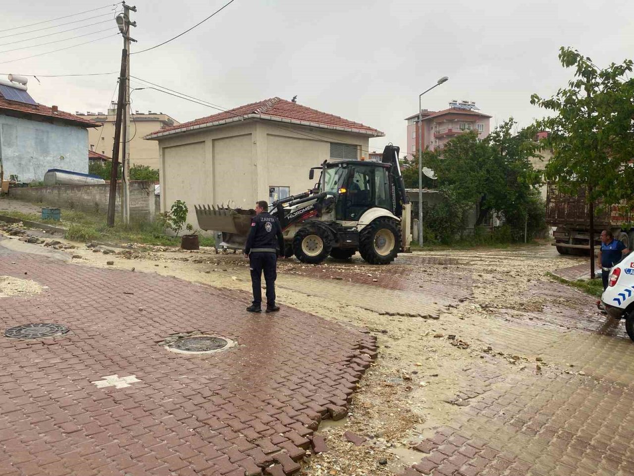
M 422 111 L 423 121 L 423 150 L 442 149 L 451 138 L 467 131 L 477 131 L 480 138 L 489 135 L 491 131 L 491 116 L 477 112 L 474 102 L 452 101 L 450 108 L 440 111 Z M 410 157 L 418 150 L 418 121 L 419 114 L 406 117 L 407 121 L 407 150 Z

